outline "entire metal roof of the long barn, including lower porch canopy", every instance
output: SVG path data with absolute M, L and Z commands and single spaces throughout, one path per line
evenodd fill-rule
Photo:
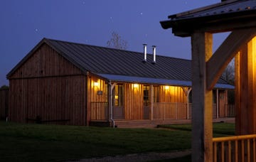
M 9 77 L 19 66 L 33 55 L 33 52 L 43 43 L 50 45 L 60 55 L 69 60 L 73 65 L 92 74 L 104 77 L 107 80 L 122 82 L 144 82 L 154 84 L 191 86 L 191 60 L 172 58 L 156 54 L 156 63 L 153 55 L 137 53 L 128 50 L 70 43 L 43 38 L 43 40 L 21 60 L 16 67 L 9 72 Z M 221 79 L 218 84 L 225 85 L 219 88 L 227 88 L 225 80 Z M 233 88 L 230 86 L 229 88 Z

